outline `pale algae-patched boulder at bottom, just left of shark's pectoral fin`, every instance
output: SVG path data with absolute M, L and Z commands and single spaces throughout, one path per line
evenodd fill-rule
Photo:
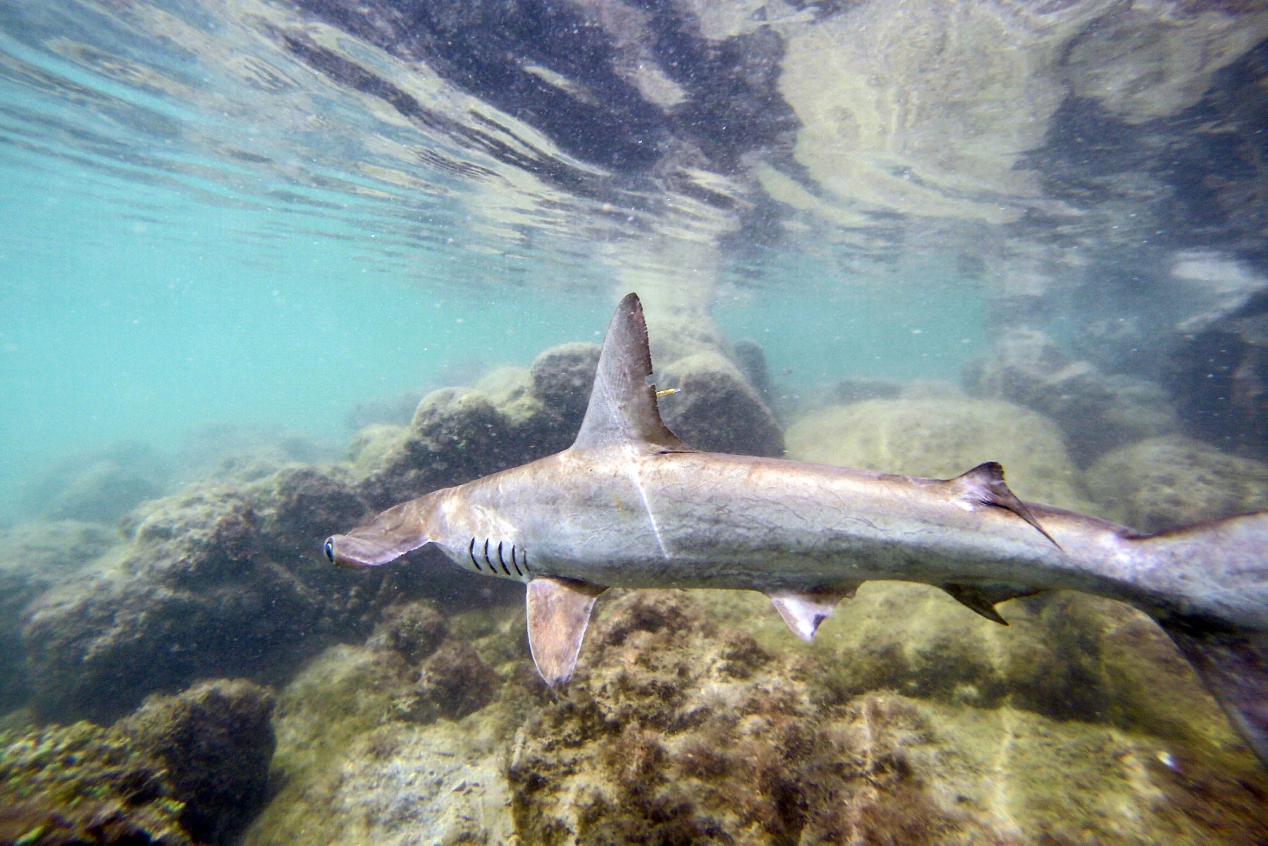
M 366 647 L 331 647 L 279 694 L 279 790 L 245 843 L 514 842 L 505 745 L 540 698 L 517 671 L 522 615 L 425 608 L 392 610 Z M 417 663 L 411 633 L 430 644 L 440 627 L 465 639 Z

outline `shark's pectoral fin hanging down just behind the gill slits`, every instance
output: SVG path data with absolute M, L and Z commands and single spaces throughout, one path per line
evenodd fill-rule
M 590 611 L 606 587 L 541 576 L 529 582 L 529 649 L 552 687 L 567 684 L 577 667 Z

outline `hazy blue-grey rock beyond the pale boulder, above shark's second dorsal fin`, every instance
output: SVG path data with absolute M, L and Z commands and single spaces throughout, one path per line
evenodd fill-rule
M 975 396 L 1016 402 L 1056 421 L 1080 463 L 1177 426 L 1159 386 L 1073 361 L 1037 330 L 1009 330 L 987 356 L 965 368 L 964 382 Z

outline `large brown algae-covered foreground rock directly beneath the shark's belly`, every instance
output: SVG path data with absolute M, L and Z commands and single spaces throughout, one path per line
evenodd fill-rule
M 767 618 L 779 625 L 766 604 L 710 591 L 601 600 L 573 682 L 512 748 L 517 833 L 540 843 L 1144 845 L 1268 832 L 1268 781 L 1244 752 L 1006 699 L 846 690 L 837 674 L 853 649 L 766 632 Z M 853 614 L 841 609 L 820 638 Z M 970 648 L 970 661 L 995 651 Z M 923 658 L 927 671 L 938 657 Z

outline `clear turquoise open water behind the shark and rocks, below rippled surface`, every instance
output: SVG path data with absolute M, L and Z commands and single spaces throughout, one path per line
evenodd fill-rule
M 167 450 L 232 424 L 337 445 L 359 403 L 432 384 L 454 363 L 527 365 L 555 344 L 597 340 L 609 317 L 601 269 L 558 256 L 508 268 L 436 244 L 384 256 L 373 233 L 314 230 L 301 211 L 23 164 L 6 162 L 0 200 L 6 510 L 51 464 L 119 441 Z M 980 294 L 932 271 L 896 294 L 775 285 L 831 271 L 775 256 L 756 285 L 719 298 L 715 317 L 762 344 L 794 388 L 954 381 L 980 351 Z

